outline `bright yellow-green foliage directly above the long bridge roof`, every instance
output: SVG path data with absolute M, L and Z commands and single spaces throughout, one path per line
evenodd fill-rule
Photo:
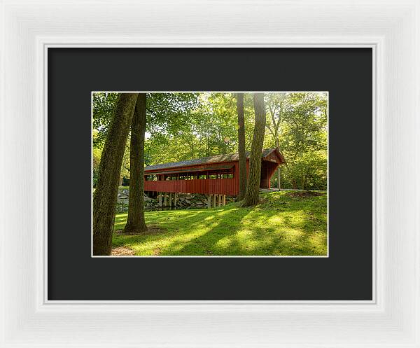
M 237 110 L 233 93 L 200 93 L 190 119 L 178 132 L 152 132 L 146 140 L 146 163 L 177 162 L 237 152 Z M 253 132 L 252 98 L 245 99 L 246 147 Z

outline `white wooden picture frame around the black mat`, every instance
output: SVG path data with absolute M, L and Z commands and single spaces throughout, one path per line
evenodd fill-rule
M 420 347 L 419 7 L 418 0 L 4 0 L 0 347 Z M 52 46 L 372 47 L 374 300 L 46 300 Z

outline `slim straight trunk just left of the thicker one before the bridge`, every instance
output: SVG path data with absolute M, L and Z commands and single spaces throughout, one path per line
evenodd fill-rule
M 244 93 L 237 93 L 238 112 L 238 153 L 239 153 L 239 195 L 237 200 L 243 200 L 246 193 L 246 151 L 245 151 L 245 119 Z

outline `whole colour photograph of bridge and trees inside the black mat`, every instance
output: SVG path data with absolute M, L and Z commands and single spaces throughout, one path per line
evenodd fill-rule
M 328 257 L 328 102 L 92 92 L 92 256 Z

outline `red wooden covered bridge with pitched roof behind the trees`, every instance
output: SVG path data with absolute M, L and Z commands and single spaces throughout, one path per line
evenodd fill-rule
M 234 153 L 162 165 L 149 165 L 144 169 L 144 190 L 159 193 L 215 195 L 215 201 L 216 195 L 224 195 L 224 197 L 225 195 L 238 195 L 238 158 L 238 154 Z M 267 148 L 262 151 L 261 162 L 260 188 L 269 188 L 272 175 L 285 160 L 278 148 Z M 246 154 L 247 174 L 248 163 L 249 153 Z M 171 204 L 172 195 L 170 195 L 169 202 Z M 221 197 L 219 196 L 219 205 L 220 202 Z

